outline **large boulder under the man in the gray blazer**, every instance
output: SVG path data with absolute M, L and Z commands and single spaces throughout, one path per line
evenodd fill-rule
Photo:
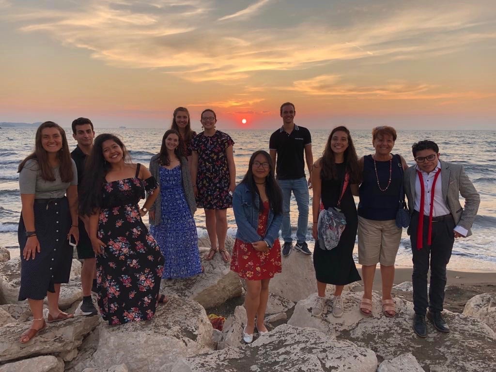
M 348 292 L 343 295 L 345 312 L 335 318 L 331 309 L 322 317 L 313 317 L 311 307 L 316 294 L 298 302 L 288 324 L 312 327 L 335 335 L 337 339 L 350 340 L 359 346 L 372 349 L 380 359 L 393 359 L 411 353 L 419 364 L 431 372 L 491 371 L 496 365 L 492 352 L 496 342 L 495 332 L 480 320 L 444 311 L 443 316 L 451 328 L 450 333 L 440 333 L 428 322 L 428 336 L 419 338 L 412 329 L 413 304 L 396 298 L 396 316 L 386 317 L 380 307 L 380 295 L 372 294 L 372 316 L 359 311 L 363 293 Z M 432 347 L 435 345 L 435 347 Z

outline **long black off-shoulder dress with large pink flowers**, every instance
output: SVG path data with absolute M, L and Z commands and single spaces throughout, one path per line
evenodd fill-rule
M 109 324 L 147 320 L 155 314 L 164 257 L 138 207 L 145 189 L 152 192 L 155 188 L 153 177 L 127 178 L 103 186 L 98 238 L 107 247 L 104 255 L 97 256 L 97 299 Z

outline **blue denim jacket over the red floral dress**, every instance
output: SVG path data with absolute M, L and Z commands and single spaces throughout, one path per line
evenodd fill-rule
M 240 239 L 246 243 L 254 243 L 265 241 L 272 248 L 276 239 L 279 239 L 279 230 L 282 224 L 282 213 L 274 214 L 272 209 L 269 209 L 267 219 L 267 230 L 262 238 L 257 233 L 258 229 L 258 203 L 259 199 L 255 197 L 254 205 L 251 199 L 251 191 L 245 184 L 236 186 L 233 195 L 233 210 L 238 232 L 236 239 Z

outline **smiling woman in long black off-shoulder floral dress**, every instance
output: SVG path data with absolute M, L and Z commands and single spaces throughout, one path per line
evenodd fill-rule
M 81 213 L 97 254 L 98 306 L 109 324 L 150 319 L 159 299 L 164 257 L 141 217 L 158 194 L 146 167 L 132 164 L 113 134 L 95 139 L 86 163 Z M 138 201 L 149 192 L 143 207 Z

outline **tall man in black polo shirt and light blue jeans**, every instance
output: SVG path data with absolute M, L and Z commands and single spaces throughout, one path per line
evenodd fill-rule
M 283 220 L 281 227 L 284 246 L 282 254 L 287 256 L 293 248 L 291 237 L 290 200 L 291 192 L 295 195 L 298 205 L 298 228 L 296 230 L 295 249 L 305 254 L 311 254 L 307 247 L 307 230 L 309 222 L 309 187 L 305 177 L 305 160 L 309 173 L 313 164 L 311 153 L 310 131 L 303 126 L 296 125 L 295 105 L 286 102 L 281 105 L 283 125 L 270 136 L 269 149 L 272 162 L 276 164 L 276 177 L 283 193 Z M 311 175 L 310 175 L 311 177 Z

